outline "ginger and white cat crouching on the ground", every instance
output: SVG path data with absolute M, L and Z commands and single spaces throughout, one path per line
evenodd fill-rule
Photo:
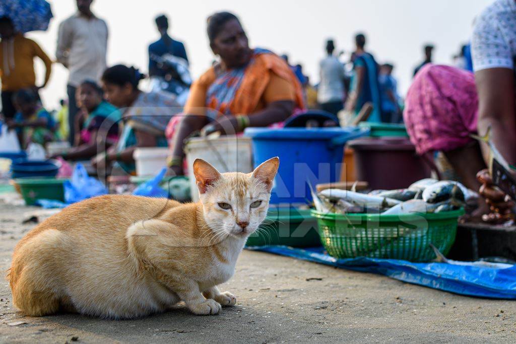
M 194 314 L 220 312 L 220 292 L 247 237 L 265 219 L 279 159 L 252 173 L 220 174 L 193 163 L 198 203 L 106 195 L 63 209 L 17 244 L 7 276 L 28 316 L 78 312 L 136 318 L 184 301 Z

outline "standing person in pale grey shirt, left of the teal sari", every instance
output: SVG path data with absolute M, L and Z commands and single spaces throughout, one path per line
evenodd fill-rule
M 319 62 L 317 102 L 322 110 L 337 116 L 344 108 L 344 65 L 333 55 L 333 40 L 326 42 L 327 56 Z

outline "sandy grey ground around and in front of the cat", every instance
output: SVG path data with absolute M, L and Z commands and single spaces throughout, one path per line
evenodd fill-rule
M 9 268 L 15 243 L 34 226 L 22 224 L 34 211 L 41 210 L 0 200 L 0 271 Z M 71 314 L 29 318 L 13 307 L 2 278 L 0 342 L 516 340 L 516 302 L 462 297 L 266 253 L 244 251 L 235 276 L 222 289 L 232 291 L 238 301 L 217 316 L 193 316 L 178 306 L 138 320 Z

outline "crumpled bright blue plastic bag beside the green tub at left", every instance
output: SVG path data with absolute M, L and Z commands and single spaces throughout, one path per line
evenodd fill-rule
M 101 181 L 90 177 L 82 163 L 77 163 L 72 173 L 72 179 L 63 184 L 65 188 L 65 203 L 75 203 L 94 196 L 107 194 L 107 189 Z

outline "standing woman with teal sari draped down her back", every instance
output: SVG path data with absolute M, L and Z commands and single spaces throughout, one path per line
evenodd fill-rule
M 350 92 L 346 100 L 345 109 L 358 114 L 366 103 L 373 104 L 373 112 L 368 122 L 381 121 L 381 97 L 378 84 L 378 64 L 372 54 L 365 51 L 365 35 L 355 36 L 356 49 L 351 55 L 353 62 L 353 76 Z

